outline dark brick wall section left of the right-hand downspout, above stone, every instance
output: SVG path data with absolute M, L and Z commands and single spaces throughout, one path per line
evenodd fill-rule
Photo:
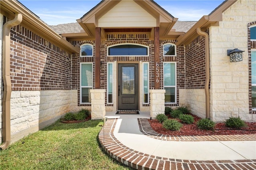
M 198 36 L 185 47 L 186 54 L 186 84 L 187 89 L 204 89 L 205 72 L 205 40 Z

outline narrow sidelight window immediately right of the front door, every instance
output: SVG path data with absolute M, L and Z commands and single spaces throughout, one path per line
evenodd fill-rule
M 149 104 L 149 76 L 148 63 L 143 63 L 143 104 Z

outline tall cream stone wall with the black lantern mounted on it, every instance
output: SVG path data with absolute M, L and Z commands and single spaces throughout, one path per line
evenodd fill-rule
M 238 0 L 222 14 L 219 26 L 210 27 L 211 115 L 214 121 L 240 116 L 256 121 L 249 113 L 248 23 L 255 21 L 256 1 Z M 230 63 L 228 49 L 245 51 L 243 61 Z

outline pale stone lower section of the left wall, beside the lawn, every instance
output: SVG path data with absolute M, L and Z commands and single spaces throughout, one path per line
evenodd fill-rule
M 71 111 L 70 108 L 77 102 L 76 92 L 76 90 L 13 91 L 11 96 L 12 143 L 54 123 L 62 115 Z

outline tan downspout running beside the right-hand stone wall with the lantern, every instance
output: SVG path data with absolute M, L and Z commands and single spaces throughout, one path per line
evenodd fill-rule
M 204 85 L 205 91 L 205 110 L 206 118 L 210 119 L 210 92 L 209 92 L 209 83 L 210 83 L 210 49 L 209 49 L 209 35 L 206 32 L 203 32 L 200 27 L 196 28 L 198 35 L 204 36 L 205 44 L 205 71 L 206 71 L 206 80 Z

